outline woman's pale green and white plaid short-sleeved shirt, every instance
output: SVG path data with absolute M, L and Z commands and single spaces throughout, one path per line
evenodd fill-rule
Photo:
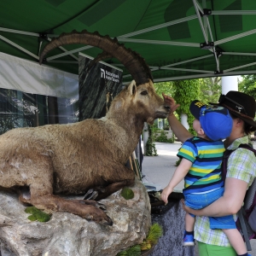
M 236 151 L 230 154 L 228 160 L 227 177 L 241 179 L 248 183 L 248 187 L 253 183 L 253 178 L 256 177 L 256 159 L 253 152 L 246 148 L 238 148 L 240 144 L 248 143 L 248 137 L 236 139 L 229 148 Z M 236 219 L 236 215 L 234 216 Z M 209 218 L 195 218 L 195 240 L 207 244 L 230 247 L 230 242 L 222 230 L 211 230 Z

